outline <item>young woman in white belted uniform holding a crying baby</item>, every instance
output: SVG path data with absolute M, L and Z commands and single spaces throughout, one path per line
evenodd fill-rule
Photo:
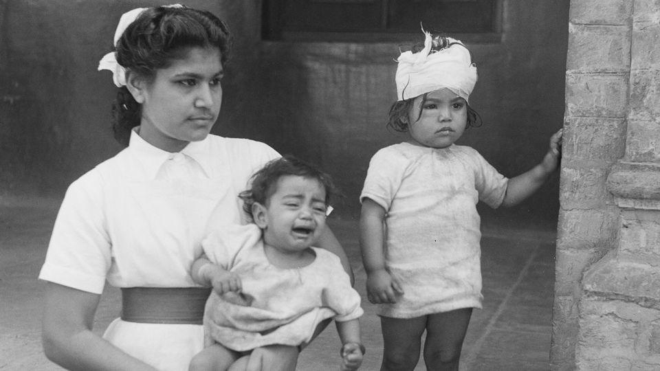
M 207 225 L 245 223 L 237 195 L 275 150 L 210 135 L 229 32 L 210 12 L 171 5 L 122 16 L 113 53 L 118 155 L 74 181 L 40 278 L 43 346 L 72 370 L 188 370 L 203 348 L 208 289 L 190 278 Z M 329 229 L 318 245 L 347 256 Z M 104 283 L 122 288 L 122 317 L 91 329 Z M 269 370 L 295 368 L 298 349 L 263 350 Z

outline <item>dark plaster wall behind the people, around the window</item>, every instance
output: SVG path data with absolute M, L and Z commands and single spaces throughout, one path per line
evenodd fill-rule
M 121 149 L 109 123 L 115 90 L 97 63 L 122 12 L 158 3 L 0 0 L 0 196 L 61 197 Z M 213 132 L 320 164 L 346 195 L 338 212 L 356 214 L 371 155 L 404 139 L 385 128 L 397 43 L 261 41 L 260 1 L 181 3 L 219 14 L 236 38 Z M 470 103 L 484 124 L 461 144 L 507 176 L 540 161 L 561 126 L 568 3 L 504 0 L 502 41 L 467 41 L 480 76 Z M 498 211 L 499 220 L 552 227 L 557 192 L 555 176 L 533 199 Z

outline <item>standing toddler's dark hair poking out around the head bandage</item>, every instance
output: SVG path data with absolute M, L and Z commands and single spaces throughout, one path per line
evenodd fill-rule
M 452 45 L 461 45 L 462 47 L 465 47 L 463 43 L 450 42 L 448 38 L 446 38 L 446 36 L 443 36 L 440 32 L 431 31 L 431 34 L 438 36 L 434 37 L 434 43 L 433 43 L 433 47 L 430 50 L 430 53 L 444 49 L 446 47 L 450 47 Z M 424 49 L 423 43 L 416 43 L 415 45 L 412 45 L 412 47 L 410 47 L 410 51 L 412 53 L 419 53 L 423 49 Z M 465 47 L 465 49 L 467 49 L 467 47 Z M 470 60 L 472 60 L 472 53 L 470 52 L 469 49 L 467 49 L 467 52 L 470 53 Z M 425 93 L 422 96 L 422 105 L 419 107 L 417 120 L 419 120 L 419 117 L 421 117 L 423 102 L 426 101 L 427 95 L 428 93 Z M 408 98 L 406 100 L 399 100 L 392 104 L 392 106 L 390 107 L 390 112 L 388 113 L 388 121 L 387 121 L 388 128 L 392 128 L 395 131 L 399 131 L 399 132 L 406 132 L 409 130 L 410 117 L 408 117 L 408 113 L 410 113 L 412 109 L 413 106 L 412 104 L 414 100 L 415 98 Z M 467 104 L 467 102 L 465 102 L 465 104 L 467 106 L 467 124 L 465 125 L 465 127 L 478 128 L 483 124 L 483 121 L 481 120 L 481 116 L 478 114 L 477 111 L 475 111 L 472 108 L 472 106 L 470 106 L 470 104 Z

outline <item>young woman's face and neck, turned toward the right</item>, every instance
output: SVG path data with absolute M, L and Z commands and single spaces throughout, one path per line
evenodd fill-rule
M 222 102 L 219 49 L 190 47 L 181 55 L 133 94 L 142 104 L 140 137 L 168 152 L 206 138 Z

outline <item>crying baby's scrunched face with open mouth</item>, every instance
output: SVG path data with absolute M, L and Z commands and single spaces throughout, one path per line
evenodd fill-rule
M 281 251 L 310 247 L 325 228 L 325 188 L 316 180 L 281 177 L 266 207 L 265 243 Z

